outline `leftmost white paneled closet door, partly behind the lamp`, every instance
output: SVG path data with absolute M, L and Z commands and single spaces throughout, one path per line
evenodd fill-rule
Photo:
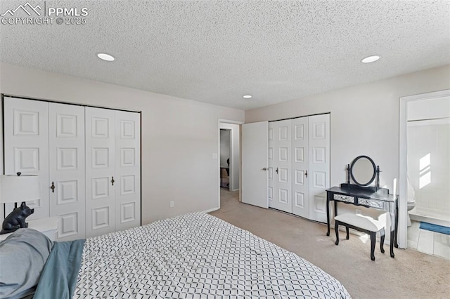
M 4 140 L 5 174 L 39 175 L 41 198 L 26 201 L 34 208 L 27 220 L 49 217 L 49 103 L 5 97 Z

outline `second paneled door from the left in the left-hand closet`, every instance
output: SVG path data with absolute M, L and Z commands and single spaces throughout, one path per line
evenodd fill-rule
M 82 239 L 86 223 L 84 107 L 49 103 L 49 128 L 50 215 L 58 216 L 58 241 Z

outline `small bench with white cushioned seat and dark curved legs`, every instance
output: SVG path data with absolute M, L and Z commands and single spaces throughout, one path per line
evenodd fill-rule
M 335 217 L 336 245 L 339 244 L 339 225 L 345 226 L 347 240 L 349 239 L 349 228 L 365 232 L 371 236 L 371 260 L 375 260 L 375 242 L 377 232 L 380 232 L 380 251 L 385 253 L 383 244 L 385 243 L 385 223 L 364 215 L 344 213 Z

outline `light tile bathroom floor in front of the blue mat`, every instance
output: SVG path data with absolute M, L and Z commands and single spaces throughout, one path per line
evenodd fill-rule
M 408 227 L 408 248 L 450 260 L 450 235 L 420 230 L 420 222 L 411 220 Z

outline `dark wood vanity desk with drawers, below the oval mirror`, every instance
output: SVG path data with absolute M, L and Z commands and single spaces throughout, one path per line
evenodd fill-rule
M 390 255 L 394 258 L 394 246 L 398 247 L 397 225 L 399 221 L 398 196 L 396 194 L 390 194 L 386 188 L 359 187 L 348 183 L 326 190 L 327 236 L 330 235 L 330 201 L 334 201 L 334 215 L 338 215 L 337 201 L 345 204 L 353 204 L 354 206 L 377 208 L 389 212 L 391 220 Z

